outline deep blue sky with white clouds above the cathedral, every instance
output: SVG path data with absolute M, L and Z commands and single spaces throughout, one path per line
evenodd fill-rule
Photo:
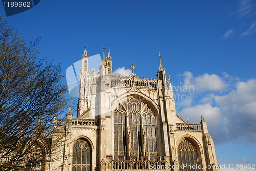
M 5 16 L 0 5 L 0 15 Z M 156 78 L 158 51 L 177 88 L 176 110 L 189 123 L 204 115 L 218 164 L 256 164 L 255 1 L 46 1 L 8 17 L 39 58 L 65 70 L 110 47 L 113 70 Z M 225 170 L 234 170 L 226 167 Z M 243 169 L 249 170 L 249 169 Z

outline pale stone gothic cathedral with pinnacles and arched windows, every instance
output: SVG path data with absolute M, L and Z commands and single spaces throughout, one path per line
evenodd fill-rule
M 203 116 L 190 124 L 176 114 L 170 77 L 159 54 L 156 79 L 112 73 L 110 50 L 99 70 L 82 55 L 77 117 L 54 119 L 51 170 L 220 170 Z M 200 121 L 200 118 L 198 118 Z M 61 135 L 61 136 L 60 136 Z

